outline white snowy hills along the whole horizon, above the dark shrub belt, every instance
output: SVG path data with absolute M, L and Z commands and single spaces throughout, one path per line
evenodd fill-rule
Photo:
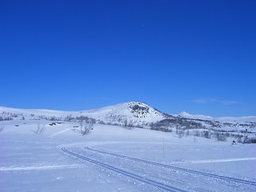
M 62 110 L 28 110 L 28 109 L 14 109 L 0 106 L 0 115 L 2 118 L 12 117 L 16 119 L 28 118 L 58 118 L 64 120 L 67 116 L 70 118 L 78 118 L 81 116 L 94 118 L 97 122 L 120 126 L 149 126 L 151 122 L 159 122 L 166 118 L 181 118 L 202 123 L 204 126 L 242 126 L 245 122 L 247 126 L 255 126 L 256 116 L 238 117 L 238 118 L 212 118 L 205 115 L 193 115 L 186 112 L 181 114 L 166 115 L 155 110 L 153 107 L 142 102 L 124 102 L 114 106 L 106 106 L 95 110 L 82 111 L 62 111 Z M 0 118 L 1 118 L 0 117 Z M 1 120 L 1 119 L 0 119 Z M 249 123 L 249 124 L 248 124 Z

